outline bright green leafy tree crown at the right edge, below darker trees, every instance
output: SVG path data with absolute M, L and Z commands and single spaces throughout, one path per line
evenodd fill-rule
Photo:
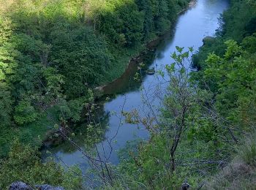
M 206 83 L 211 80 L 217 85 L 219 109 L 224 111 L 223 114 L 242 103 L 239 99 L 252 96 L 256 77 L 255 61 L 244 57 L 246 53 L 241 52 L 236 42 L 227 41 L 226 44 L 224 58 L 215 54 L 208 57 L 203 78 Z

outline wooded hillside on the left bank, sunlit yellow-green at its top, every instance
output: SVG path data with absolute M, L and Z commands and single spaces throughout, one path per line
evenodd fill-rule
M 90 88 L 124 72 L 188 0 L 1 0 L 0 156 L 77 122 Z M 39 138 L 38 138 L 39 137 Z

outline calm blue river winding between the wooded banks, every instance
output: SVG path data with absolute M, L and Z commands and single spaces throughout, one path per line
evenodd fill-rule
M 228 5 L 228 0 L 198 0 L 195 6 L 179 16 L 173 30 L 162 38 L 157 47 L 154 50 L 148 51 L 147 55 L 143 58 L 143 63 L 148 68 L 155 67 L 159 69 L 165 64 L 172 63 L 170 54 L 176 51 L 176 46 L 194 47 L 197 50 L 198 47 L 203 45 L 204 37 L 214 35 L 219 27 L 219 15 L 227 9 Z M 118 164 L 117 151 L 120 148 L 124 148 L 128 141 L 148 139 L 148 132 L 143 127 L 128 123 L 120 125 L 122 110 L 131 111 L 138 109 L 147 115 L 148 107 L 145 106 L 141 99 L 141 86 L 146 89 L 148 100 L 151 101 L 151 104 L 155 104 L 154 101 L 157 101 L 155 98 L 156 91 L 152 89 L 155 89 L 158 83 L 160 83 L 159 77 L 157 75 L 143 75 L 142 83 L 136 83 L 133 77 L 138 70 L 137 67 L 138 65 L 135 63 L 130 64 L 123 76 L 105 86 L 105 94 L 118 95 L 112 96 L 108 102 L 98 107 L 97 118 L 99 118 L 102 129 L 105 131 L 105 140 L 99 143 L 98 148 L 101 153 L 103 148 L 106 154 L 110 153 L 107 140 L 113 138 L 113 152 L 110 154 L 109 159 L 112 164 Z M 75 142 L 80 146 L 84 144 L 85 135 L 83 135 L 83 132 L 85 129 L 86 124 L 82 123 L 76 126 L 74 138 Z M 55 148 L 48 148 L 48 151 L 57 160 L 61 158 L 61 161 L 64 161 L 67 165 L 78 164 L 82 170 L 88 168 L 83 154 L 72 147 L 69 142 L 63 142 Z

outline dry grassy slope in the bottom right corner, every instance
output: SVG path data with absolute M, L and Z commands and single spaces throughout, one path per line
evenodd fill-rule
M 238 155 L 203 189 L 256 189 L 256 134 L 238 148 Z

